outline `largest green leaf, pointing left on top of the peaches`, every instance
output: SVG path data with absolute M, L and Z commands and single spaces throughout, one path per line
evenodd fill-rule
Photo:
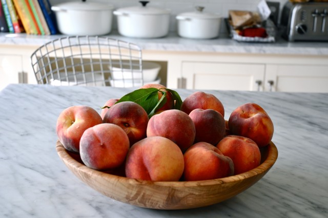
M 137 89 L 120 98 L 120 102 L 135 102 L 144 108 L 149 114 L 158 103 L 158 91 L 156 88 Z

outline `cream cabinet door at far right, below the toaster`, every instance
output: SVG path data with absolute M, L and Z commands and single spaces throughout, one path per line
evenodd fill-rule
M 328 65 L 267 65 L 265 90 L 328 92 Z

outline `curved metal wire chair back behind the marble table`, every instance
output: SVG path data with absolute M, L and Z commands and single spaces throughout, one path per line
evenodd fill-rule
M 31 64 L 38 84 L 135 87 L 144 83 L 141 48 L 104 36 L 56 38 L 33 52 Z

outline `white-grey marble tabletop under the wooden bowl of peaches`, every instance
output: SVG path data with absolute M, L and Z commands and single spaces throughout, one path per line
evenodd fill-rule
M 0 217 L 315 217 L 328 214 L 328 94 L 207 91 L 226 109 L 255 102 L 271 116 L 279 155 L 254 186 L 225 202 L 153 210 L 114 201 L 80 182 L 55 150 L 56 119 L 72 105 L 100 112 L 131 89 L 9 85 L 0 92 Z M 176 90 L 182 100 L 192 90 Z

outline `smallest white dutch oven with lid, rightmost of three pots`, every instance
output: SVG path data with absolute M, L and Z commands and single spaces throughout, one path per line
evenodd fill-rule
M 209 39 L 219 35 L 221 16 L 203 12 L 203 7 L 195 7 L 195 12 L 178 14 L 178 34 L 181 37 Z

